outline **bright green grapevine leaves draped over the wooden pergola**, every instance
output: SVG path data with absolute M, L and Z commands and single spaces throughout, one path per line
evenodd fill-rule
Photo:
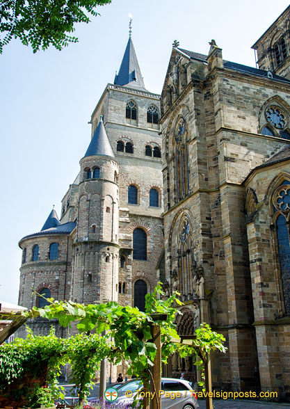
M 212 331 L 206 323 L 203 323 L 195 331 L 196 338 L 190 346 L 173 342 L 174 339 L 179 339 L 174 321 L 176 314 L 181 313 L 176 310 L 176 305 L 182 305 L 182 303 L 177 298 L 178 293 L 164 300 L 165 294 L 160 284 L 157 285 L 152 294 L 146 295 L 146 312 L 141 312 L 138 308 L 130 305 L 118 305 L 113 301 L 106 304 L 83 305 L 72 301 L 54 300 L 53 298 L 48 298 L 50 304 L 45 305 L 44 308 L 33 307 L 31 311 L 22 312 L 22 315 L 31 319 L 38 316 L 45 319 L 58 319 L 61 326 L 70 326 L 71 323 L 76 322 L 76 328 L 81 332 L 80 335 L 69 339 L 57 339 L 50 334 L 51 346 L 45 346 L 45 342 L 42 344 L 42 354 L 47 357 L 51 364 L 49 374 L 52 385 L 55 381 L 53 373 L 55 376 L 55 368 L 59 367 L 60 357 L 63 359 L 62 362 L 70 362 L 72 365 L 72 381 L 79 385 L 80 403 L 89 392 L 95 369 L 105 357 L 113 364 L 125 360 L 129 367 L 127 373 L 143 378 L 145 383 L 146 379 L 149 380 L 150 378 L 156 355 L 156 346 L 152 342 L 151 335 L 152 325 L 155 324 L 158 324 L 161 329 L 161 359 L 163 362 L 167 362 L 168 356 L 175 351 L 179 352 L 182 357 L 196 355 L 195 364 L 200 365 L 200 369 L 203 371 L 210 351 L 225 352 L 223 335 Z M 94 331 L 93 335 L 86 335 L 92 330 Z M 102 337 L 101 334 L 104 336 Z M 29 339 L 38 338 L 45 339 L 46 337 L 29 335 L 28 350 L 30 348 Z M 113 340 L 113 344 L 109 342 L 109 339 Z M 17 342 L 22 345 L 23 350 L 26 350 L 26 340 Z M 38 343 L 41 343 L 40 340 Z M 22 348 L 16 347 L 14 351 L 13 344 L 7 345 L 12 346 L 5 347 L 7 356 L 5 368 L 3 367 L 4 371 L 1 370 L 0 355 L 0 376 L 5 376 L 3 373 L 5 374 L 7 370 L 6 380 L 11 381 L 23 371 L 27 357 L 26 351 L 22 353 Z M 15 353 L 11 366 L 7 358 L 9 348 Z M 49 348 L 52 349 L 49 350 Z M 56 354 L 55 357 L 53 354 L 50 355 L 52 351 Z M 21 363 L 19 364 L 17 360 Z

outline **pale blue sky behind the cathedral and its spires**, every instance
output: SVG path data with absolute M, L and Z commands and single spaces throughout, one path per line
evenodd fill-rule
M 79 43 L 33 54 L 13 40 L 0 56 L 0 300 L 17 303 L 22 251 L 79 172 L 90 142 L 90 115 L 113 83 L 132 40 L 145 87 L 161 93 L 173 40 L 207 54 L 216 40 L 223 58 L 255 66 L 250 47 L 289 6 L 287 0 L 113 0 L 101 16 L 76 26 Z

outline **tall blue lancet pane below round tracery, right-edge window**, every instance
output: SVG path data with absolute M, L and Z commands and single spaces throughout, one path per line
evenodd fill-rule
M 280 271 L 284 294 L 284 305 L 287 314 L 290 314 L 290 244 L 289 227 L 283 214 L 277 217 L 277 241 L 280 258 Z

